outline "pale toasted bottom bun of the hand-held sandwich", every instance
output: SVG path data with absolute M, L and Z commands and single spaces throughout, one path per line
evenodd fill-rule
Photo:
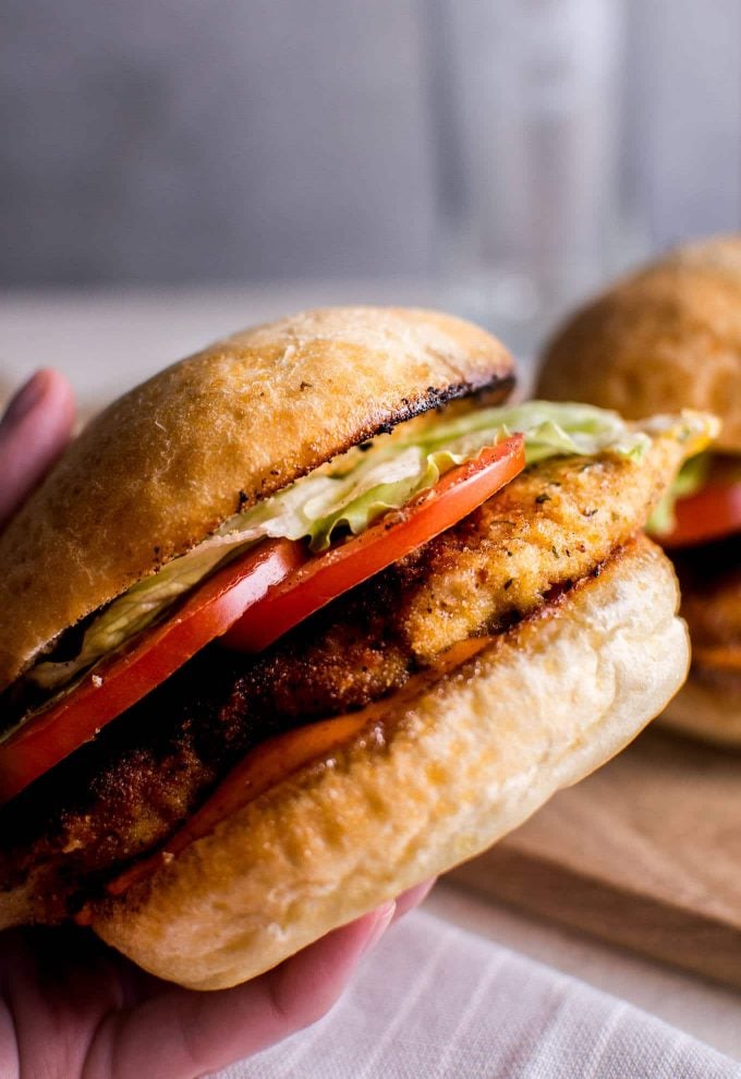
M 94 913 L 146 970 L 254 978 L 521 824 L 629 742 L 689 663 L 673 570 L 645 538 L 328 761 L 272 787 Z

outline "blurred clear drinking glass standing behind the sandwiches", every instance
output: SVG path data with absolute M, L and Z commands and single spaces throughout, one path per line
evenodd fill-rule
M 430 0 L 444 301 L 532 352 L 640 253 L 621 220 L 621 0 Z

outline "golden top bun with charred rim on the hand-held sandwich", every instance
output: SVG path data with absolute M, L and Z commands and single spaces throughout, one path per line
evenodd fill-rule
M 89 611 L 391 424 L 487 387 L 512 361 L 437 312 L 335 307 L 258 326 L 131 390 L 0 535 L 0 690 Z

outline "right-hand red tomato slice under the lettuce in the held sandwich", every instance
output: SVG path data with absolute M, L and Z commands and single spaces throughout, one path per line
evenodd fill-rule
M 258 608 L 245 611 L 221 641 L 240 652 L 260 652 L 330 601 L 367 581 L 391 562 L 452 528 L 525 466 L 523 435 L 512 435 L 451 469 L 403 509 L 365 532 L 309 559 L 276 585 Z

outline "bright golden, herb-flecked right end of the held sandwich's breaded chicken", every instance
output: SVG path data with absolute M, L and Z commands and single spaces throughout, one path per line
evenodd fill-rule
M 398 615 L 408 646 L 428 660 L 584 577 L 643 528 L 682 457 L 666 436 L 641 461 L 566 457 L 527 469 L 414 556 L 420 583 Z

